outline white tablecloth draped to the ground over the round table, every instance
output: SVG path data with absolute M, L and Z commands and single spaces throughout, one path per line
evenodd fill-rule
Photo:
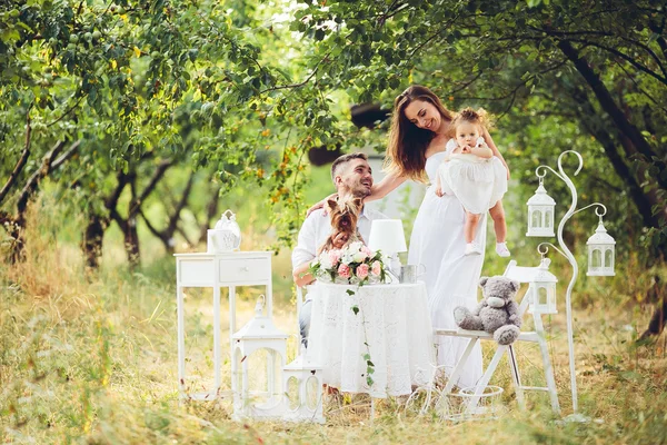
M 424 283 L 358 288 L 318 281 L 308 295 L 307 354 L 323 366 L 323 383 L 376 398 L 410 394 L 411 385 L 427 383 L 435 349 Z M 370 387 L 365 354 L 375 365 Z

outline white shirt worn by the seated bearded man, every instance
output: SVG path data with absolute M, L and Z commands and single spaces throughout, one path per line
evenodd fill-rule
M 292 251 L 292 269 L 305 263 L 310 263 L 316 257 L 317 250 L 331 234 L 331 219 L 325 216 L 323 212 L 323 209 L 315 210 L 303 221 L 299 231 L 297 247 Z M 374 219 L 387 219 L 387 216 L 365 206 L 359 215 L 357 227 L 366 243 L 368 243 L 370 224 Z

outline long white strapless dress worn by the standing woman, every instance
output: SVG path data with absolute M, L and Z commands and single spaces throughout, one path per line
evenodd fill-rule
M 415 219 L 408 263 L 422 264 L 426 267 L 424 280 L 428 294 L 428 305 L 435 328 L 455 329 L 454 308 L 466 306 L 470 309 L 477 305 L 477 289 L 482 255 L 465 256 L 466 239 L 464 222 L 466 214 L 461 202 L 454 195 L 439 198 L 435 194 L 438 166 L 442 162 L 445 151 L 432 155 L 426 160 L 426 172 L 431 186 Z M 479 218 L 477 243 L 486 246 L 487 214 Z M 462 355 L 468 339 L 439 336 L 438 365 L 445 365 L 450 373 Z M 475 347 L 467 363 L 467 368 L 457 382 L 458 386 L 472 386 L 481 377 L 481 348 Z

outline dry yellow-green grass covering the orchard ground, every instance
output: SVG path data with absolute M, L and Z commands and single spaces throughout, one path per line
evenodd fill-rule
M 51 218 L 38 212 L 50 211 Z M 547 397 L 516 406 L 508 366 L 495 384 L 508 409 L 499 419 L 454 424 L 405 416 L 400 400 L 378 402 L 368 417 L 362 397 L 326 405 L 327 423 L 236 423 L 226 402 L 178 404 L 173 260 L 156 258 L 140 271 L 106 264 L 87 275 L 76 243 L 62 243 L 49 224 L 57 206 L 36 206 L 28 258 L 0 266 L 0 437 L 3 443 L 548 443 L 598 444 L 667 441 L 665 337 L 637 346 L 650 306 L 636 295 L 648 280 L 639 263 L 626 263 L 609 283 L 583 278 L 577 286 L 576 350 L 580 411 L 591 422 L 564 423 Z M 39 222 L 37 222 L 39 221 Z M 76 221 L 73 222 L 76 224 Z M 249 236 L 258 239 L 259 236 Z M 250 248 L 252 246 L 249 246 Z M 150 251 L 150 246 L 145 247 Z M 122 257 L 122 253 L 110 255 Z M 492 261 L 489 258 L 489 261 Z M 556 267 L 563 267 L 558 263 Z M 289 253 L 273 260 L 276 324 L 296 334 Z M 501 271 L 491 264 L 491 271 Z M 660 266 L 664 268 L 664 266 Z M 655 273 L 655 270 L 651 270 Z M 565 285 L 561 283 L 563 288 Z M 240 323 L 250 317 L 260 289 L 245 290 Z M 210 295 L 188 294 L 189 372 L 212 374 Z M 563 304 L 563 301 L 561 301 Z M 556 380 L 569 414 L 569 374 L 564 309 L 547 320 Z M 227 333 L 223 333 L 223 338 Z M 295 355 L 290 338 L 289 355 Z M 488 360 L 492 350 L 485 349 Z M 527 382 L 541 384 L 537 349 L 521 348 Z M 225 378 L 229 378 L 225 369 Z

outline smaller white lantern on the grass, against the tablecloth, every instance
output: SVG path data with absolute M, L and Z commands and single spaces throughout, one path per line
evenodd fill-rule
M 325 423 L 322 415 L 322 366 L 310 362 L 306 348 L 282 368 L 285 416 L 291 422 Z

